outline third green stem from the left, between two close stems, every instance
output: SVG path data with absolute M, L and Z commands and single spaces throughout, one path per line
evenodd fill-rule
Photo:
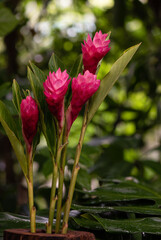
M 66 144 L 68 138 L 66 137 L 66 131 L 64 132 L 63 144 Z M 59 189 L 58 189 L 58 203 L 57 203 L 57 216 L 56 216 L 56 228 L 55 232 L 58 233 L 60 230 L 60 222 L 61 222 L 61 210 L 62 210 L 62 198 L 63 198 L 63 183 L 64 183 L 64 168 L 66 162 L 66 152 L 67 152 L 67 144 L 65 145 L 62 152 L 62 161 L 59 170 Z

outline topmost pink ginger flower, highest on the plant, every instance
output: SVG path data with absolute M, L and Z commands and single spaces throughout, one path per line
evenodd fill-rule
M 84 72 L 89 70 L 93 74 L 96 73 L 99 61 L 110 50 L 108 46 L 110 40 L 106 40 L 107 36 L 108 34 L 102 34 L 101 31 L 96 32 L 92 42 L 88 34 L 87 42 L 84 41 L 84 45 L 82 44 Z

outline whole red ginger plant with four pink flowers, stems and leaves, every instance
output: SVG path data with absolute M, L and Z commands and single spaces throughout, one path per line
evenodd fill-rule
M 108 36 L 108 34 L 102 34 L 99 31 L 92 40 L 88 35 L 87 41 L 84 41 L 84 45 L 82 45 L 82 56 L 76 60 L 69 74 L 55 54 L 51 56 L 49 61 L 48 76 L 33 63 L 30 63 L 28 79 L 34 99 L 28 90 L 23 91 L 25 99 L 22 99 L 18 83 L 14 80 L 12 85 L 13 103 L 19 114 L 20 122 L 15 122 L 5 104 L 2 101 L 0 102 L 0 122 L 6 131 L 27 181 L 30 229 L 33 233 L 36 232 L 33 159 L 41 131 L 46 138 L 53 163 L 49 218 L 46 231 L 52 233 L 57 203 L 55 232 L 65 234 L 68 230 L 69 213 L 80 169 L 79 159 L 87 126 L 140 46 L 138 44 L 127 49 L 113 64 L 105 77 L 99 80 L 97 79 L 98 66 L 110 50 Z M 70 82 L 72 83 L 70 84 Z M 75 152 L 71 181 L 65 205 L 62 206 L 68 137 L 72 124 L 84 105 L 82 129 Z M 23 143 L 25 143 L 25 147 Z M 59 179 L 58 193 L 56 193 L 57 179 Z M 76 207 L 80 209 L 79 206 Z M 61 221 L 62 213 L 64 214 Z M 76 220 L 76 222 L 78 221 Z

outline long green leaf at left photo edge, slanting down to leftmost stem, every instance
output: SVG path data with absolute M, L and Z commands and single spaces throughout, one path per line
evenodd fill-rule
M 0 122 L 10 140 L 23 173 L 25 177 L 27 177 L 27 160 L 24 154 L 24 148 L 16 136 L 16 125 L 14 120 L 2 101 L 0 101 Z

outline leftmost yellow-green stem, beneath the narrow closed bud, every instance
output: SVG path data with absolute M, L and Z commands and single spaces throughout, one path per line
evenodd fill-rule
M 29 211 L 30 211 L 30 230 L 32 233 L 36 232 L 36 208 L 34 207 L 34 194 L 33 194 L 33 159 L 32 148 L 30 152 L 27 152 L 27 165 L 28 165 L 28 199 L 29 199 Z

